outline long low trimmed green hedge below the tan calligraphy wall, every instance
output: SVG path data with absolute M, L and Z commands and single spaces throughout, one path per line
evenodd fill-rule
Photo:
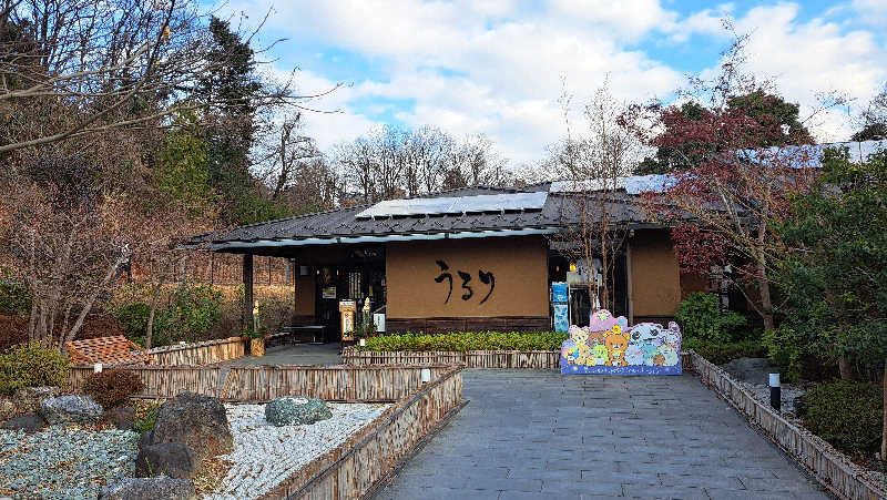
M 548 333 L 453 333 L 446 335 L 402 334 L 367 339 L 360 350 L 426 351 L 426 350 L 560 350 L 567 334 Z

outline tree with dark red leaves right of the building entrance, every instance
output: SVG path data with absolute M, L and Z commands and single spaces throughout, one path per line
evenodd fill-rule
M 771 264 L 781 247 L 773 223 L 818 169 L 797 105 L 741 71 L 745 40 L 724 52 L 715 79 L 691 80 L 682 104 L 638 106 L 626 120 L 642 116 L 645 143 L 667 152 L 671 182 L 649 201 L 653 216 L 673 226 L 681 271 L 733 264 L 731 279 L 769 330 Z

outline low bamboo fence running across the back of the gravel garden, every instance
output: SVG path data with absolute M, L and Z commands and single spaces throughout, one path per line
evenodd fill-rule
M 269 401 L 307 396 L 341 401 L 396 401 L 422 386 L 421 368 L 431 379 L 452 366 L 136 366 L 126 367 L 144 384 L 137 396 L 172 398 L 191 391 L 224 400 Z M 71 368 L 70 387 L 81 391 L 91 366 Z

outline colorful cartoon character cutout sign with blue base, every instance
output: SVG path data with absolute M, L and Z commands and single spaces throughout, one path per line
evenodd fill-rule
M 561 344 L 561 374 L 681 375 L 681 330 L 641 323 L 602 309 L 587 327 L 570 327 Z

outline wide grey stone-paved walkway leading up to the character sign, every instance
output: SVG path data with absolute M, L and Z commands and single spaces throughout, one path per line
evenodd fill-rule
M 466 370 L 471 402 L 375 499 L 827 499 L 692 375 Z

